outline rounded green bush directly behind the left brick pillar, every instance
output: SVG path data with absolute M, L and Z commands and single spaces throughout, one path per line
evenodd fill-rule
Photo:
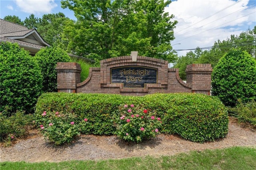
M 40 49 L 35 55 L 35 59 L 40 65 L 43 76 L 43 91 L 57 91 L 57 62 L 70 62 L 69 55 L 59 47 L 45 47 Z

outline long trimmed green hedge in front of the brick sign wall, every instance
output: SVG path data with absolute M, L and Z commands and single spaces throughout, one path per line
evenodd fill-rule
M 114 120 L 118 107 L 124 104 L 140 105 L 156 111 L 162 120 L 161 132 L 179 134 L 195 142 L 212 141 L 228 133 L 228 113 L 217 97 L 171 93 L 143 97 L 113 94 L 44 93 L 36 104 L 36 117 L 44 111 L 75 113 L 80 119 L 87 118 L 90 126 L 84 134 L 114 134 Z

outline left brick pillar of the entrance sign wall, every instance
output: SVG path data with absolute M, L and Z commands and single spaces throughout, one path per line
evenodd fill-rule
M 76 93 L 76 84 L 80 83 L 80 64 L 58 62 L 56 71 L 58 92 Z

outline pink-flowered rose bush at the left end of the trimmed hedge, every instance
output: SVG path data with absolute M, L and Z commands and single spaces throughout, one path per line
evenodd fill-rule
M 72 142 L 82 128 L 86 128 L 88 119 L 79 119 L 74 113 L 46 112 L 36 115 L 36 123 L 45 139 L 55 145 Z

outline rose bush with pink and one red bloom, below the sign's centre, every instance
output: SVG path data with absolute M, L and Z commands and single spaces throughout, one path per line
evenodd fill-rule
M 120 107 L 116 120 L 116 134 L 128 142 L 141 142 L 154 137 L 162 127 L 161 119 L 154 112 L 135 105 Z M 156 119 L 155 119 L 156 118 Z

